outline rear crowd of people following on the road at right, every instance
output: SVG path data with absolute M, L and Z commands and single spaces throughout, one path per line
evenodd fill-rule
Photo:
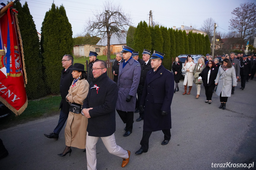
M 252 57 L 253 56 L 253 57 Z M 241 88 L 244 90 L 246 81 L 252 80 L 256 72 L 256 54 L 238 54 L 231 52 L 230 55 L 225 54 L 221 59 L 206 54 L 206 58 L 198 59 L 198 63 L 194 63 L 191 55 L 187 56 L 187 60 L 182 67 L 179 57 L 175 58 L 172 64 L 174 73 L 175 88 L 174 93 L 179 91 L 178 83 L 182 77 L 182 68 L 185 70 L 184 75 L 184 93 L 190 94 L 193 83 L 196 85 L 197 95 L 199 98 L 201 84 L 205 88 L 206 103 L 212 103 L 212 94 L 216 87 L 216 94 L 220 96 L 221 105 L 219 108 L 225 109 L 228 97 L 234 94 L 237 81 L 241 81 Z M 187 86 L 189 91 L 187 92 Z

